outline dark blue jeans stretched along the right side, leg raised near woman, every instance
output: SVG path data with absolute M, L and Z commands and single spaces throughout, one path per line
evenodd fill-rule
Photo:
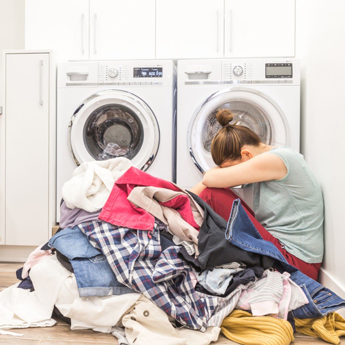
M 225 237 L 239 248 L 275 258 L 274 268 L 280 273 L 290 273 L 290 278 L 303 289 L 309 301 L 292 312 L 294 317 L 321 317 L 345 307 L 344 299 L 288 264 L 277 247 L 261 237 L 243 209 L 240 199 L 233 203 Z

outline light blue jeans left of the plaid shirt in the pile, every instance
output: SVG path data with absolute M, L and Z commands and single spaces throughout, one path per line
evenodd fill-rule
M 135 292 L 118 282 L 106 257 L 91 245 L 78 226 L 61 230 L 50 238 L 49 245 L 69 259 L 80 297 Z

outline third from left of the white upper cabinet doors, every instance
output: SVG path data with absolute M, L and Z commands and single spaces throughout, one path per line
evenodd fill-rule
M 224 0 L 156 0 L 156 58 L 221 58 Z

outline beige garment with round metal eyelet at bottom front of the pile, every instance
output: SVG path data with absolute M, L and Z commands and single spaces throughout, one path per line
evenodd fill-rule
M 217 341 L 220 331 L 219 327 L 208 327 L 204 333 L 185 327 L 174 328 L 168 315 L 144 295 L 122 317 L 122 324 L 128 343 L 133 345 L 208 345 Z

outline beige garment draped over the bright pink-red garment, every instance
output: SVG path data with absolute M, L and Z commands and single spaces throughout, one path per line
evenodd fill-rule
M 187 195 L 190 200 L 191 210 L 196 224 L 201 226 L 204 220 L 204 210 L 194 201 L 194 199 L 183 189 L 175 191 L 159 187 L 135 187 L 127 199 L 134 205 L 144 209 L 152 216 L 155 216 L 165 224 L 169 225 L 169 230 L 174 235 L 185 241 L 194 242 L 196 255 L 198 252 L 199 231 L 188 224 L 173 208 L 162 206 L 158 203 L 165 203 L 179 195 Z

